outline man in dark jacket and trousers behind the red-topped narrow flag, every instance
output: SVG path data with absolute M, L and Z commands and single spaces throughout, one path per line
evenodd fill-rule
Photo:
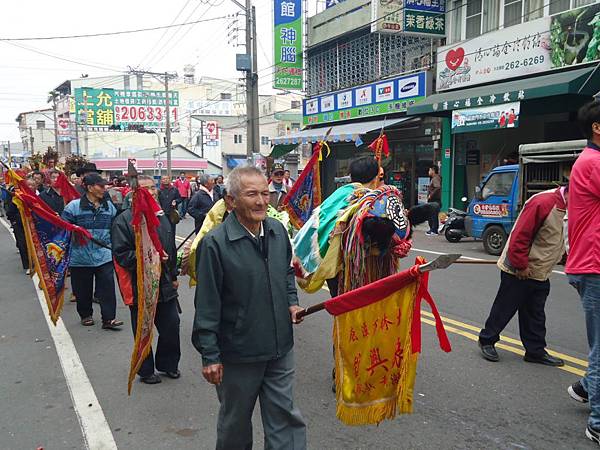
M 140 175 L 138 177 L 140 188 L 148 189 L 158 200 L 158 190 L 152 177 Z M 131 226 L 131 209 L 123 211 L 116 219 L 112 228 L 112 251 L 115 261 L 123 269 L 130 272 L 133 287 L 133 304 L 129 305 L 131 311 L 131 327 L 133 335 L 137 328 L 137 282 L 136 282 L 136 254 L 135 234 Z M 163 249 L 168 257 L 163 259 L 160 274 L 158 303 L 154 324 L 158 330 L 158 344 L 156 358 L 152 351 L 142 363 L 138 375 L 140 381 L 146 384 L 161 382 L 160 377 L 154 372 L 163 372 L 169 378 L 179 378 L 178 370 L 181 351 L 179 346 L 179 314 L 177 311 L 177 252 L 175 250 L 175 234 L 171 223 L 165 215 L 159 217 L 160 225 L 156 229 Z

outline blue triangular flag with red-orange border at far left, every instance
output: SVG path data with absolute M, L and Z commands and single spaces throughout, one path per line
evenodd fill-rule
M 40 286 L 56 325 L 64 302 L 65 278 L 71 257 L 71 236 L 91 239 L 84 228 L 62 220 L 40 200 L 14 171 L 9 170 L 11 183 L 16 185 L 13 202 L 19 209 L 29 254 L 29 265 L 35 268 Z

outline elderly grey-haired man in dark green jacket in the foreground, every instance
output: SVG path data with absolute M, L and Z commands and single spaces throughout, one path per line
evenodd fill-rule
M 231 172 L 233 212 L 198 251 L 192 343 L 221 407 L 217 449 L 252 448 L 257 398 L 265 448 L 305 449 L 306 426 L 294 406 L 294 337 L 298 295 L 292 248 L 283 225 L 267 218 L 269 187 L 254 167 Z

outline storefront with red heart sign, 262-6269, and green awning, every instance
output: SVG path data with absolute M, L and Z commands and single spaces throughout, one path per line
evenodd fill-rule
M 519 145 L 582 137 L 577 110 L 600 91 L 599 14 L 595 3 L 438 48 L 437 93 L 407 115 L 442 121 L 444 208 L 518 162 Z

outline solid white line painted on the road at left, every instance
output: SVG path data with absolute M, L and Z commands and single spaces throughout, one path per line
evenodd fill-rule
M 0 223 L 4 225 L 10 236 L 14 239 L 10 225 L 6 220 L 0 218 Z M 98 402 L 94 388 L 81 363 L 71 335 L 67 331 L 62 319 L 58 319 L 56 326 L 52 324 L 44 292 L 37 287 L 39 282 L 38 276 L 34 275 L 32 280 L 44 318 L 46 319 L 46 324 L 54 341 L 56 353 L 58 354 L 58 359 L 67 382 L 67 388 L 71 395 L 77 420 L 79 420 L 86 448 L 90 450 L 116 450 L 117 443 L 106 421 L 100 402 Z

